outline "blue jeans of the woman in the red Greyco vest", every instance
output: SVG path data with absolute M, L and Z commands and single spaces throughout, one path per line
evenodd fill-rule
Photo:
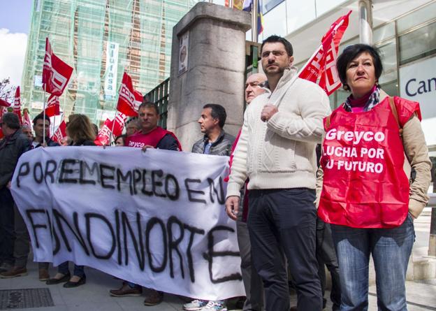
M 412 217 L 391 229 L 331 225 L 339 261 L 341 311 L 368 310 L 370 254 L 374 260 L 378 310 L 407 311 L 406 271 L 415 240 Z

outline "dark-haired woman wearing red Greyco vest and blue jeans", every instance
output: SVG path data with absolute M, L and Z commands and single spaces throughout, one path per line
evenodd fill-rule
M 379 88 L 382 62 L 370 45 L 346 48 L 337 70 L 351 95 L 324 120 L 317 189 L 318 214 L 331 224 L 339 261 L 340 310 L 368 310 L 370 255 L 379 310 L 407 310 L 413 220 L 431 180 L 419 103 Z

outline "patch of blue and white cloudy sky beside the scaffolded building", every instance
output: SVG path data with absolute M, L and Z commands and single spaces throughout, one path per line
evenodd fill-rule
M 33 0 L 0 0 L 0 80 L 20 85 Z

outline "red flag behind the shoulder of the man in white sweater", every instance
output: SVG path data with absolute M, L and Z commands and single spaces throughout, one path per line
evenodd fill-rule
M 306 65 L 301 69 L 299 78 L 317 83 L 326 91 L 327 95 L 332 94 L 341 85 L 337 74 L 336 59 L 339 44 L 348 27 L 348 19 L 351 10 L 347 15 L 339 17 L 328 29 L 321 39 L 321 45 Z

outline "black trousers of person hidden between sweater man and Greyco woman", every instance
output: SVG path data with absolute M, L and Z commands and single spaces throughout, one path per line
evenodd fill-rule
M 341 290 L 340 290 L 340 277 L 339 265 L 337 263 L 335 245 L 333 245 L 333 238 L 330 229 L 330 224 L 326 224 L 319 217 L 317 218 L 317 261 L 319 265 L 318 275 L 321 281 L 321 291 L 323 295 L 323 305 L 326 305 L 324 298 L 324 291 L 326 291 L 326 265 L 328 272 L 330 272 L 332 280 L 332 289 L 330 292 L 330 300 L 333 303 L 333 311 L 340 310 Z

